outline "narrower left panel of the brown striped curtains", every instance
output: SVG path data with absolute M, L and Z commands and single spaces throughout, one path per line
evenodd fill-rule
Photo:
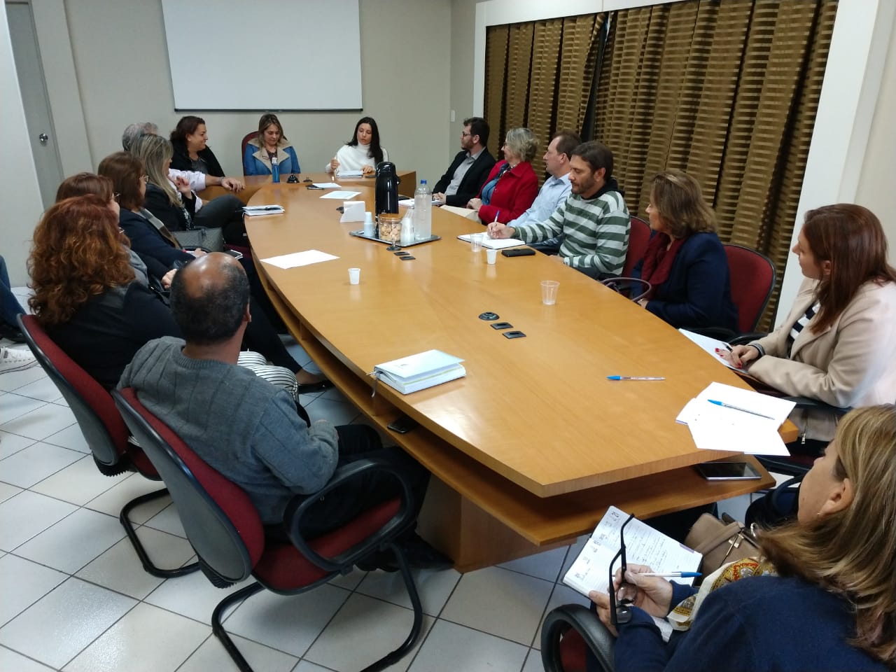
M 529 127 L 543 149 L 555 130 L 582 127 L 603 14 L 491 26 L 485 117 L 496 154 L 510 128 Z M 536 172 L 538 164 L 535 165 Z

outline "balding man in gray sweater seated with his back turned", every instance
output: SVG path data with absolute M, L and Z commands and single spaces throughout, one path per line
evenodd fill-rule
M 429 473 L 417 461 L 398 448 L 383 448 L 369 426 L 333 427 L 326 420 L 309 426 L 288 392 L 237 366 L 249 322 L 249 285 L 237 260 L 214 253 L 188 263 L 172 282 L 171 312 L 185 341 L 151 340 L 118 386 L 133 387 L 202 460 L 242 487 L 269 536 L 287 538 L 283 513 L 293 496 L 316 492 L 338 466 L 360 458 L 389 461 L 400 470 L 419 509 Z M 315 504 L 303 532 L 313 538 L 397 494 L 392 478 L 353 480 Z M 405 541 L 424 543 L 416 535 Z M 409 561 L 427 564 L 425 556 L 412 552 Z

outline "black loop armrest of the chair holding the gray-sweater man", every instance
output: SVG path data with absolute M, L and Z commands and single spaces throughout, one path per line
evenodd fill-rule
M 331 493 L 333 490 L 344 486 L 353 478 L 358 478 L 361 474 L 367 474 L 370 471 L 382 471 L 395 478 L 401 485 L 401 506 L 395 515 L 383 525 L 382 528 L 376 530 L 373 534 L 366 537 L 352 547 L 349 547 L 338 556 L 324 557 L 314 550 L 314 542 L 317 539 L 306 539 L 299 531 L 299 525 L 303 516 L 307 511 L 323 495 Z M 371 508 L 374 508 L 371 506 Z M 301 551 L 303 556 L 316 564 L 326 572 L 345 572 L 358 560 L 364 558 L 380 547 L 385 546 L 393 538 L 397 537 L 401 532 L 408 529 L 414 523 L 416 514 L 414 513 L 414 495 L 410 491 L 408 482 L 401 478 L 401 474 L 392 468 L 390 464 L 381 460 L 358 460 L 350 464 L 340 467 L 333 472 L 332 478 L 327 484 L 312 495 L 297 495 L 293 497 L 286 507 L 286 513 L 283 515 L 284 526 L 286 527 L 289 539 L 293 545 Z M 347 523 L 350 524 L 350 523 Z M 338 531 L 338 530 L 333 530 Z M 328 533 L 329 534 L 329 533 Z M 324 538 L 324 534 L 320 538 Z

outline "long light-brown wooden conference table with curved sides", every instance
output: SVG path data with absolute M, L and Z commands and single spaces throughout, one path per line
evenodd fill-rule
M 372 189 L 361 191 L 372 211 Z M 553 257 L 498 254 L 489 266 L 456 238 L 480 225 L 438 209 L 442 240 L 401 261 L 349 236 L 361 224 L 340 224 L 341 203 L 322 194 L 281 183 L 254 195 L 286 210 L 247 220 L 255 262 L 323 372 L 433 473 L 418 530 L 459 571 L 569 543 L 610 504 L 643 519 L 773 485 L 761 467 L 759 481 L 710 483 L 689 466 L 743 459 L 697 450 L 675 418 L 712 381 L 745 383 L 668 324 Z M 307 249 L 339 259 L 289 270 L 260 261 Z M 559 280 L 555 306 L 542 305 L 540 280 Z M 478 318 L 487 311 L 526 338 L 505 339 Z M 467 376 L 409 395 L 379 383 L 371 397 L 376 364 L 426 349 L 463 358 Z M 388 432 L 401 413 L 420 426 Z M 782 435 L 797 429 L 787 423 Z

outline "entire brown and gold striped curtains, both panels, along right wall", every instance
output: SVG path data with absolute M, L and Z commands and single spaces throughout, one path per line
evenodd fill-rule
M 836 0 L 686 0 L 490 27 L 486 118 L 493 134 L 499 130 L 494 147 L 513 125 L 536 125 L 547 138 L 593 114 L 595 139 L 613 150 L 633 213 L 646 210 L 657 172 L 686 170 L 718 214 L 722 240 L 770 256 L 780 282 L 836 12 Z

